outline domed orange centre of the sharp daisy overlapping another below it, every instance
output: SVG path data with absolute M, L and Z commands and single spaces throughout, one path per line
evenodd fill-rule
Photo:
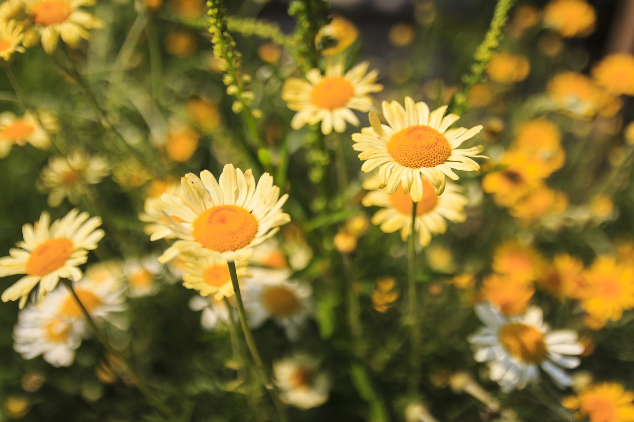
M 436 129 L 417 125 L 394 134 L 387 143 L 387 151 L 404 167 L 420 169 L 446 162 L 451 155 L 451 146 Z

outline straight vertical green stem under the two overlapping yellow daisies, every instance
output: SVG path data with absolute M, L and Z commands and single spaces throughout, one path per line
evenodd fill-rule
M 411 207 L 411 231 L 408 238 L 407 248 L 407 290 L 408 290 L 408 324 L 410 326 L 411 338 L 411 375 L 410 375 L 410 393 L 418 392 L 418 384 L 420 383 L 420 327 L 418 324 L 418 297 L 416 294 L 416 208 L 417 203 L 414 202 Z

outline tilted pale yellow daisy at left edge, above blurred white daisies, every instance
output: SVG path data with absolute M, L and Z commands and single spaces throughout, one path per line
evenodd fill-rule
M 87 212 L 71 210 L 65 217 L 51 224 L 48 213 L 42 212 L 33 226 L 22 226 L 24 241 L 9 251 L 10 256 L 0 258 L 0 277 L 26 274 L 2 294 L 3 302 L 20 300 L 24 307 L 31 290 L 39 283 L 36 305 L 40 305 L 49 291 L 53 291 L 60 278 L 79 281 L 79 265 L 86 263 L 89 250 L 97 248 L 103 238 L 100 217 L 89 218 Z

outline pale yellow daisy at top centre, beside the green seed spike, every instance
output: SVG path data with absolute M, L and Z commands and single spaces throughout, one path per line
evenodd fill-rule
M 327 65 L 326 74 L 311 69 L 307 80 L 289 78 L 284 83 L 281 98 L 288 108 L 297 112 L 290 122 L 293 129 L 306 124 L 321 122 L 321 132 L 330 134 L 346 130 L 346 122 L 358 126 L 359 119 L 353 110 L 368 112 L 372 107 L 371 93 L 378 93 L 383 86 L 376 84 L 378 70 L 368 73 L 368 63 L 356 65 L 344 74 L 344 65 Z

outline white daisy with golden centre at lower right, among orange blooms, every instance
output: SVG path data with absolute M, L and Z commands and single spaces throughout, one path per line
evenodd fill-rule
M 489 377 L 503 392 L 521 390 L 539 380 L 541 367 L 557 387 L 571 385 L 561 368 L 576 368 L 583 352 L 577 334 L 569 329 L 550 331 L 543 323 L 539 307 L 530 307 L 523 316 L 504 317 L 490 304 L 475 306 L 475 314 L 485 326 L 469 342 L 475 345 L 474 359 L 489 362 Z

